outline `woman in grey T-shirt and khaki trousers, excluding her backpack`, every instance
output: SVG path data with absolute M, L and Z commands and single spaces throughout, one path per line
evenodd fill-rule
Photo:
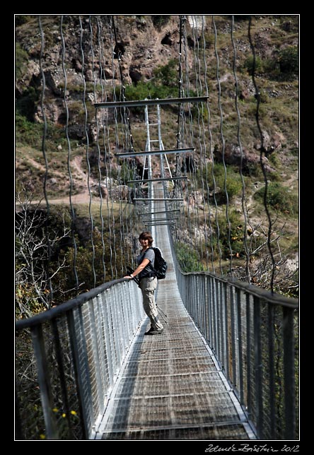
M 144 311 L 151 321 L 151 328 L 145 332 L 145 335 L 157 335 L 163 333 L 163 324 L 158 317 L 158 311 L 155 302 L 155 290 L 157 287 L 157 278 L 154 271 L 155 253 L 151 249 L 153 237 L 151 232 L 141 232 L 139 235 L 139 243 L 141 244 L 141 252 L 137 256 L 137 267 L 128 276 L 124 278 L 133 279 L 138 276 L 139 288 L 143 295 Z

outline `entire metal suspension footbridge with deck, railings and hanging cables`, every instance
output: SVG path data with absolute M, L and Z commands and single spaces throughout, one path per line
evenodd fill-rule
M 49 131 L 46 107 L 49 98 L 45 98 L 47 63 L 43 58 L 45 45 L 49 42 L 45 33 L 48 35 L 50 29 L 45 29 L 45 20 L 39 16 L 42 155 L 46 166 L 44 199 L 48 213 L 40 227 L 47 248 L 40 266 L 35 262 L 38 261 L 36 255 L 30 262 L 35 265 L 33 276 L 38 270 L 46 273 L 45 284 L 41 281 L 45 292 L 41 290 L 40 295 L 47 311 L 16 321 L 16 439 L 298 439 L 298 300 L 274 292 L 277 264 L 272 247 L 273 223 L 266 198 L 267 240 L 255 244 L 255 249 L 257 252 L 264 247 L 268 252 L 265 273 L 269 276 L 269 290 L 252 284 L 252 244 L 248 244 L 252 237 L 248 240 L 249 217 L 242 160 L 239 167 L 242 202 L 237 206 L 241 224 L 236 223 L 236 230 L 240 232 L 237 238 L 241 239 L 242 246 L 233 250 L 236 235 L 232 233 L 231 194 L 226 186 L 228 166 L 223 160 L 221 169 L 225 184 L 221 208 L 211 146 L 205 46 L 196 45 L 200 37 L 205 43 L 204 30 L 199 32 L 204 18 L 189 19 L 190 24 L 195 25 L 192 27 L 195 34 L 192 79 L 196 81 L 197 94 L 189 96 L 187 18 L 179 16 L 179 97 L 141 100 L 125 97 L 121 56 L 116 57 L 122 47 L 117 41 L 114 17 L 105 16 L 102 20 L 102 16 L 95 16 L 85 25 L 81 16 L 75 21 L 81 49 L 90 196 L 88 215 L 93 278 L 86 292 L 81 292 L 80 288 L 81 275 L 85 272 L 81 262 L 86 264 L 86 258 L 80 256 L 76 225 L 79 217 L 73 194 L 73 150 L 69 141 L 69 100 L 66 95 L 71 71 L 65 61 L 67 44 L 63 20 L 62 16 L 59 32 L 67 113 L 65 131 L 71 218 L 68 237 L 71 236 L 69 250 L 73 252 L 64 256 L 64 262 L 71 259 L 66 278 L 73 287 L 74 297 L 52 305 L 59 283 L 56 282 L 58 273 L 52 268 L 57 236 L 52 235 L 54 225 L 49 218 L 53 197 L 48 178 L 51 156 L 46 142 Z M 213 24 L 216 40 L 214 18 Z M 86 44 L 88 30 L 89 46 Z M 232 33 L 233 17 L 231 42 Z M 115 86 L 116 79 L 110 79 L 110 93 L 108 81 L 103 76 L 109 61 L 105 58 L 104 37 L 108 41 L 112 73 L 121 76 L 119 91 Z M 97 78 L 94 73 L 95 85 L 90 98 L 86 96 L 84 68 L 87 48 L 93 59 L 98 56 L 100 76 Z M 237 88 L 236 59 L 233 66 Z M 217 80 L 219 83 L 219 77 Z M 97 83 L 100 88 L 96 89 Z M 253 72 L 254 83 L 258 93 Z M 237 97 L 238 90 L 235 90 L 236 136 L 243 156 Z M 91 132 L 87 126 L 90 120 L 88 102 L 95 112 L 95 169 L 89 144 Z M 172 115 L 177 119 L 174 148 L 164 147 L 163 106 L 171 106 Z M 219 85 L 219 110 L 222 112 L 221 106 Z M 262 142 L 262 157 L 264 136 L 260 134 L 258 106 L 257 102 L 257 136 Z M 135 107 L 144 112 L 146 133 L 145 146 L 139 150 L 136 150 L 132 134 L 131 112 Z M 220 138 L 224 154 L 222 115 Z M 261 166 L 265 171 L 262 158 Z M 98 178 L 97 199 L 95 189 L 91 189 L 92 176 Z M 267 188 L 267 176 L 265 185 Z M 97 214 L 94 206 L 98 208 Z M 18 232 L 23 226 L 23 232 L 26 232 L 29 213 L 36 214 L 29 205 L 27 210 L 23 210 L 23 204 L 18 206 Z M 38 223 L 40 218 L 32 216 L 34 226 L 34 220 Z M 134 281 L 121 278 L 127 266 L 134 264 L 136 239 L 142 230 L 152 232 L 154 245 L 161 248 L 168 262 L 167 276 L 158 282 L 156 290 L 158 310 L 165 327 L 158 336 L 144 336 L 149 319 L 144 314 L 141 292 Z M 124 252 L 122 256 L 121 251 Z M 239 251 L 244 271 L 240 280 L 233 272 L 233 258 Z M 23 267 L 18 276 L 22 276 Z M 22 314 L 23 308 L 20 309 Z

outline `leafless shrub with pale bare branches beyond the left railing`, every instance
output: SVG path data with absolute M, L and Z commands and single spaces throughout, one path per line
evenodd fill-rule
M 65 259 L 47 263 L 48 244 L 54 251 L 69 236 L 64 213 L 58 213 L 56 225 L 49 224 L 46 236 L 47 222 L 47 212 L 40 202 L 33 203 L 24 189 L 16 194 L 16 302 L 24 317 L 50 308 L 48 282 L 66 267 Z

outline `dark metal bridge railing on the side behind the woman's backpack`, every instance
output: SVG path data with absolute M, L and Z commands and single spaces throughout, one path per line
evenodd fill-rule
M 182 273 L 176 261 L 175 271 L 182 301 L 257 437 L 298 439 L 298 300 L 207 272 Z

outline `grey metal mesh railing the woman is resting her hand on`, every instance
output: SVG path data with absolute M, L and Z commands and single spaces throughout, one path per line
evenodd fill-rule
M 16 439 L 88 439 L 143 318 L 122 279 L 17 321 Z

